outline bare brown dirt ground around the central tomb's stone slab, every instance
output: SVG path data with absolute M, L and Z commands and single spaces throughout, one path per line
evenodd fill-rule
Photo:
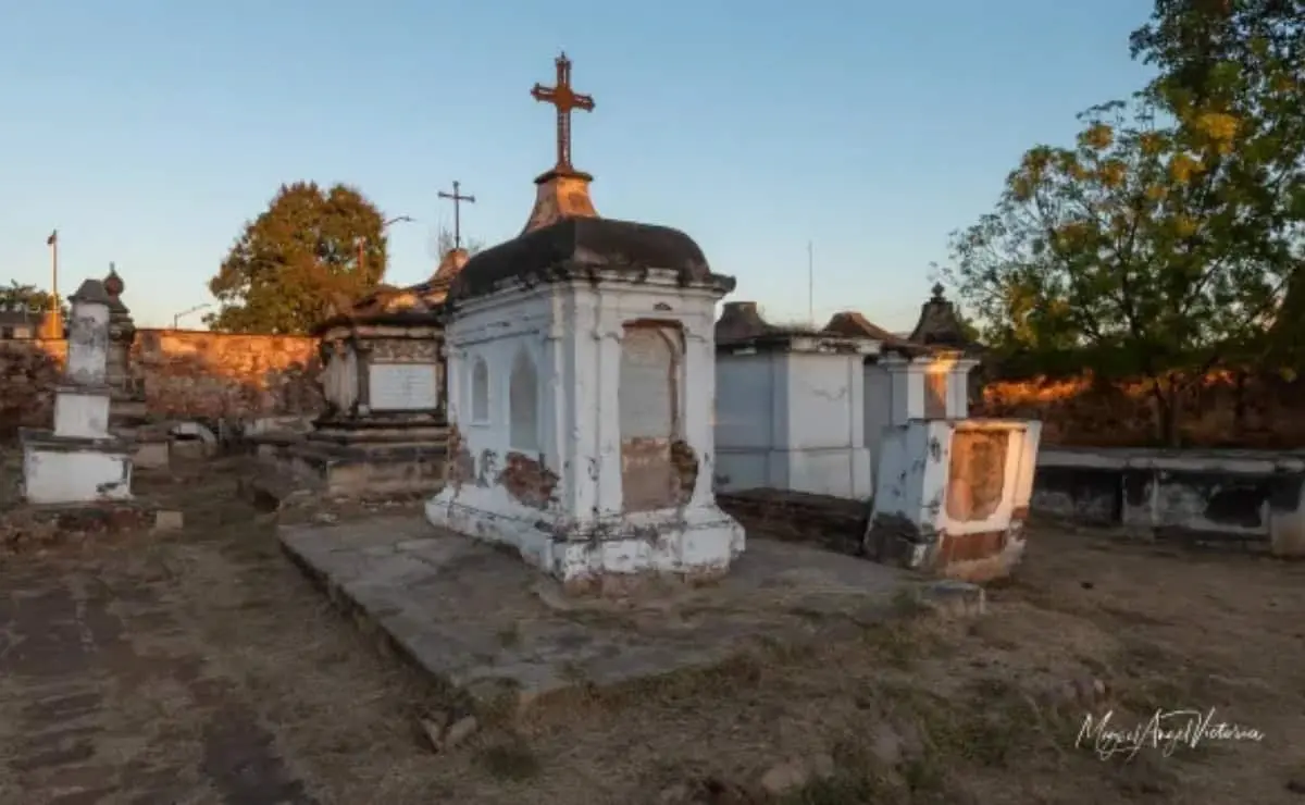
M 1305 802 L 1305 565 L 1037 530 L 980 620 L 903 607 L 435 753 L 442 694 L 290 565 L 232 467 L 138 480 L 179 534 L 0 556 L 0 804 Z M 1237 727 L 1195 746 L 1078 740 L 1210 708 Z

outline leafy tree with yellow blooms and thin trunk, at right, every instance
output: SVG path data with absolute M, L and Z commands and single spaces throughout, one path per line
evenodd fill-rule
M 1258 192 L 1276 153 L 1236 154 L 1225 115 L 1158 111 L 1104 104 L 1074 147 L 1026 153 L 996 210 L 954 236 L 950 275 L 994 344 L 1146 377 L 1174 444 L 1185 384 L 1262 334 L 1295 247 Z

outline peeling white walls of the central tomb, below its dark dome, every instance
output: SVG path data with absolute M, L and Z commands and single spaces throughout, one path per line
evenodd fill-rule
M 457 471 L 461 455 L 472 478 L 450 480 L 427 504 L 428 519 L 513 545 L 564 582 L 724 571 L 744 530 L 713 492 L 718 296 L 651 270 L 639 284 L 514 286 L 462 303 L 445 329 L 458 437 L 449 462 Z M 641 467 L 632 438 L 688 446 L 697 475 L 684 500 L 643 500 L 664 462 Z M 510 489 L 521 483 L 517 470 L 504 472 L 513 453 L 556 474 L 545 502 Z M 688 476 L 662 480 L 676 478 Z

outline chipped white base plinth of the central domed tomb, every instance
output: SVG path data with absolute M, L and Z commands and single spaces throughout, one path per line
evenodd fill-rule
M 501 487 L 446 487 L 427 521 L 472 539 L 509 545 L 568 591 L 622 587 L 639 577 L 709 581 L 743 553 L 743 526 L 714 502 L 576 524 L 510 500 Z

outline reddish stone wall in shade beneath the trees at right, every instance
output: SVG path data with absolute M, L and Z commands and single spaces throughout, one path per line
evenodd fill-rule
M 1305 380 L 1211 372 L 1181 399 L 1178 431 L 1193 448 L 1305 448 Z M 1090 377 L 997 381 L 984 386 L 974 416 L 1043 420 L 1043 444 L 1156 444 L 1155 402 L 1144 381 L 1094 384 Z

